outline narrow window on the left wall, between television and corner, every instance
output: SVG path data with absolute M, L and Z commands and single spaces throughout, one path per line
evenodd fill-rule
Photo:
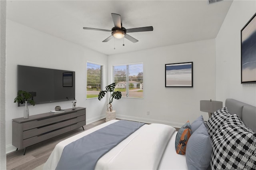
M 102 89 L 102 65 L 87 62 L 87 99 L 98 97 Z

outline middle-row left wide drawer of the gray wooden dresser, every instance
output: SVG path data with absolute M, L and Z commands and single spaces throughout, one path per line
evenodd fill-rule
M 32 128 L 30 130 L 26 130 L 26 131 L 23 132 L 23 139 L 31 138 L 33 136 L 38 136 L 40 134 L 50 132 L 52 130 L 62 128 L 62 127 L 68 126 L 68 125 L 70 125 L 70 120 L 60 122 L 60 123 L 56 123 L 56 124 L 53 124 L 53 125 L 49 125 L 49 126 L 46 126 L 46 127 Z

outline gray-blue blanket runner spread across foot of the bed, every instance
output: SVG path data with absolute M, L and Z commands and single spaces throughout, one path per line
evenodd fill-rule
M 68 144 L 56 170 L 94 170 L 100 157 L 143 125 L 120 120 Z

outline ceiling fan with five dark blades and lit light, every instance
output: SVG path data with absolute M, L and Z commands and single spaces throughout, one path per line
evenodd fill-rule
M 153 31 L 152 26 L 126 29 L 126 28 L 122 27 L 121 16 L 119 14 L 111 13 L 111 16 L 112 16 L 112 20 L 114 22 L 114 27 L 112 28 L 112 30 L 104 30 L 104 29 L 98 29 L 98 28 L 87 28 L 87 27 L 83 27 L 83 28 L 84 28 L 84 30 L 112 32 L 111 36 L 109 36 L 102 42 L 108 42 L 114 36 L 115 38 L 126 38 L 127 40 L 130 40 L 131 42 L 136 43 L 136 42 L 138 42 L 138 40 L 136 40 L 132 36 L 129 36 L 126 33 Z

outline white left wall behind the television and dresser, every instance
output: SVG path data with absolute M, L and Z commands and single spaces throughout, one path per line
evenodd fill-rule
M 13 103 L 17 95 L 17 65 L 76 71 L 76 106 L 87 108 L 86 122 L 90 123 L 105 116 L 105 110 L 102 109 L 104 102 L 98 99 L 86 100 L 86 62 L 103 64 L 106 73 L 107 55 L 7 20 L 6 56 L 7 152 L 14 149 L 11 145 L 12 119 L 23 117 L 24 110 L 24 107 Z M 57 105 L 68 109 L 72 107 L 72 101 L 38 104 L 34 107 L 30 105 L 30 115 L 49 112 Z

